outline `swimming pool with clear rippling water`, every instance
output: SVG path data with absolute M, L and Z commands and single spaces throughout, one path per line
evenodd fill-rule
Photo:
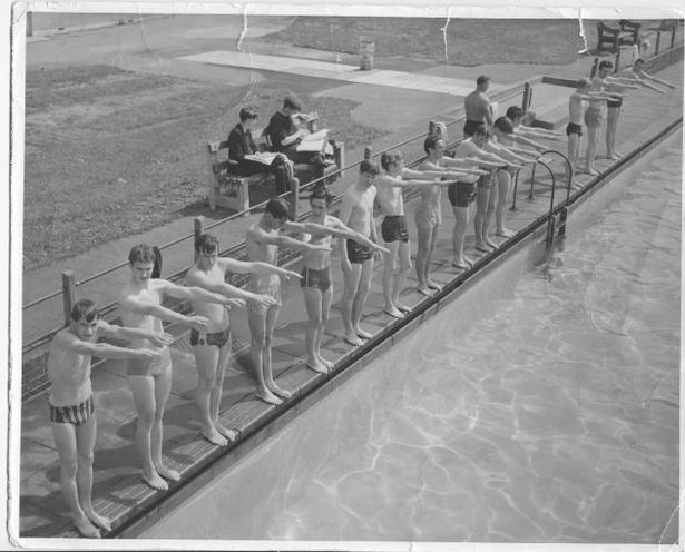
M 674 542 L 681 140 L 140 536 Z

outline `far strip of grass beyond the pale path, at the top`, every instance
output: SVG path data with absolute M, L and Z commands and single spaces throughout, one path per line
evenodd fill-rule
M 394 56 L 458 66 L 565 65 L 574 62 L 583 48 L 574 19 L 452 19 L 446 32 L 444 27 L 444 19 L 297 17 L 287 29 L 262 40 L 356 53 L 363 36 L 375 42 L 380 65 Z M 586 32 L 596 42 L 594 22 L 588 22 Z

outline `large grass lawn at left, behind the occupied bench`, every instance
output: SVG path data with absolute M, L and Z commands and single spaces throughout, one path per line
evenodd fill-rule
M 25 269 L 197 210 L 208 178 L 205 145 L 227 137 L 245 105 L 265 125 L 293 92 L 346 148 L 383 136 L 352 124 L 355 102 L 313 98 L 299 88 L 278 77 L 251 88 L 109 66 L 29 68 Z

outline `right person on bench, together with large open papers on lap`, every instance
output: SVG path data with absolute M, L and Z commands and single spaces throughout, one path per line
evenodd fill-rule
M 330 147 L 327 131 L 323 131 L 323 136 L 312 135 L 303 125 L 305 120 L 301 111 L 300 102 L 286 97 L 281 109 L 272 116 L 264 134 L 271 140 L 272 151 L 285 154 L 294 162 L 311 165 L 314 178 L 321 178 L 325 168 L 326 147 Z

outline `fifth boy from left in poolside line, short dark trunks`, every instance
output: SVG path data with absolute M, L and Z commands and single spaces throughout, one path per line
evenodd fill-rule
M 310 221 L 319 224 L 325 228 L 336 230 L 336 235 L 348 243 L 359 244 L 368 247 L 371 252 L 386 253 L 382 246 L 370 240 L 368 237 L 352 230 L 340 219 L 329 215 L 331 196 L 324 184 L 319 184 L 312 190 L 310 205 L 312 216 Z M 310 245 L 321 245 L 329 250 L 309 250 L 302 253 L 302 293 L 304 294 L 304 305 L 307 314 L 307 326 L 305 332 L 306 365 L 314 372 L 326 373 L 333 367 L 333 363 L 321 356 L 321 342 L 323 339 L 324 326 L 329 319 L 331 310 L 331 299 L 333 298 L 333 286 L 331 283 L 331 234 L 313 233 L 310 235 Z

